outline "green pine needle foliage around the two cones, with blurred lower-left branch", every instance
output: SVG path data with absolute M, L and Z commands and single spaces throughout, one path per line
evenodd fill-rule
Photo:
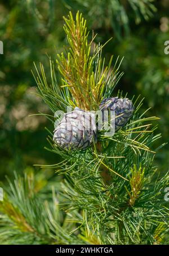
M 77 12 L 64 17 L 64 30 L 69 47 L 50 59 L 51 81 L 40 64 L 35 67 L 38 95 L 51 109 L 51 122 L 56 111 L 66 107 L 97 110 L 104 99 L 114 95 L 122 76 L 121 61 L 102 57 L 102 45 L 96 45 L 86 20 Z M 57 66 L 57 70 L 55 68 Z M 57 79 L 57 73 L 61 79 Z M 126 95 L 124 95 L 126 97 Z M 0 239 L 11 244 L 165 244 L 167 243 L 168 209 L 164 189 L 168 174 L 158 178 L 153 165 L 153 143 L 157 126 L 139 113 L 141 97 L 131 99 L 135 111 L 130 120 L 113 136 L 98 132 L 97 142 L 77 151 L 66 150 L 53 142 L 49 132 L 47 148 L 60 162 L 50 167 L 56 180 L 41 186 L 33 172 L 24 178 L 15 175 L 14 184 L 0 202 Z M 43 185 L 43 186 L 42 186 Z M 50 188 L 52 187 L 52 192 Z M 10 229 L 8 228 L 10 226 Z

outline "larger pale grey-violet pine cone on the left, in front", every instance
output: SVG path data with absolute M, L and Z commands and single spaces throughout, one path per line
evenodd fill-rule
M 75 108 L 54 130 L 54 142 L 64 149 L 85 149 L 96 140 L 95 114 Z

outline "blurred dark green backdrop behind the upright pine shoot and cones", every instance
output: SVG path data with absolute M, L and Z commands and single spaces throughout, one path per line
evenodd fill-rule
M 169 125 L 169 55 L 164 42 L 169 40 L 169 1 L 150 0 L 13 0 L 0 1 L 0 179 L 32 168 L 33 164 L 55 164 L 57 156 L 45 149 L 48 135 L 45 126 L 54 127 L 43 116 L 50 113 L 45 103 L 34 94 L 31 73 L 33 61 L 41 61 L 49 72 L 48 58 L 56 59 L 66 38 L 63 15 L 69 10 L 81 11 L 87 26 L 97 33 L 96 42 L 105 43 L 104 55 L 109 61 L 124 56 L 124 75 L 117 90 L 145 97 L 141 111 L 151 107 L 148 116 L 158 116 L 162 144 L 168 141 Z M 168 145 L 155 158 L 160 171 L 167 171 Z M 38 170 L 38 167 L 35 167 Z

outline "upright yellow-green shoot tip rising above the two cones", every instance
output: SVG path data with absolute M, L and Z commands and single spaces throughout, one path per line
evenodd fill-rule
M 57 55 L 58 69 L 63 76 L 62 87 L 67 87 L 75 100 L 75 104 L 82 109 L 98 109 L 103 95 L 116 83 L 121 76 L 118 69 L 110 72 L 110 59 L 108 67 L 104 67 L 101 58 L 103 46 L 96 46 L 91 55 L 91 46 L 94 38 L 88 43 L 86 20 L 77 12 L 75 21 L 69 12 L 68 19 L 64 17 L 64 30 L 69 42 L 69 52 L 66 57 L 62 53 Z M 113 79 L 112 79 L 113 78 Z M 117 81 L 116 81 L 117 79 Z M 108 92 L 107 92 L 108 93 Z

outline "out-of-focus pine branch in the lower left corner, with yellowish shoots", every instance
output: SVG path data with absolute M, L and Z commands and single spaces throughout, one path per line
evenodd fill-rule
M 41 179 L 39 179 L 39 175 Z M 54 189 L 51 191 L 51 186 L 54 184 L 55 188 L 58 186 L 56 181 L 52 184 L 49 181 L 46 183 L 43 173 L 35 176 L 31 171 L 25 173 L 24 179 L 15 173 L 14 183 L 10 180 L 8 182 L 10 189 L 6 189 L 4 186 L 5 200 L 0 202 L 1 244 L 79 242 L 78 238 L 69 237 L 68 227 L 71 230 L 74 224 L 63 216 L 59 209 L 56 193 Z M 44 203 L 44 195 L 48 202 Z

